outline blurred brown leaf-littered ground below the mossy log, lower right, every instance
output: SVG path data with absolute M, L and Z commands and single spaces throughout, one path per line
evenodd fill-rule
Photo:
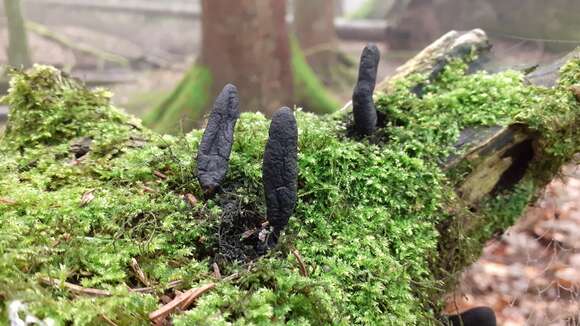
M 580 325 L 580 166 L 563 177 L 467 270 L 447 311 L 490 306 L 500 325 Z

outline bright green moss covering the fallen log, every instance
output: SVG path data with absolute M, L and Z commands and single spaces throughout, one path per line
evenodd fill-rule
M 106 92 L 55 69 L 15 73 L 0 142 L 0 320 L 21 300 L 57 324 L 149 324 L 167 284 L 182 280 L 183 289 L 217 286 L 175 315 L 176 325 L 435 324 L 454 274 L 580 148 L 580 107 L 568 89 L 580 81 L 579 60 L 554 89 L 526 85 L 517 72 L 466 76 L 464 69 L 450 65 L 422 98 L 408 91 L 421 76 L 379 95 L 387 128 L 372 139 L 348 138 L 344 116 L 296 112 L 296 213 L 276 250 L 236 262 L 224 258 L 220 235 L 232 221 L 263 219 L 263 115 L 242 114 L 224 191 L 191 205 L 184 194 L 203 197 L 194 160 L 201 131 L 161 136 L 111 107 Z M 440 163 L 461 130 L 516 122 L 541 135 L 540 159 L 515 189 L 469 212 L 454 191 L 461 176 Z M 76 157 L 71 146 L 87 138 L 90 152 Z M 465 216 L 477 227 L 466 228 Z M 154 293 L 129 290 L 143 286 L 132 258 Z M 222 275 L 240 277 L 217 281 L 214 261 Z M 111 296 L 41 284 L 47 277 Z

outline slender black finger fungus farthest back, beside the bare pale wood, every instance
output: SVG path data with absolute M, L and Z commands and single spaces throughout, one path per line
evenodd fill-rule
M 371 135 L 377 126 L 377 110 L 373 93 L 377 82 L 377 69 L 381 53 L 374 44 L 365 46 L 358 72 L 358 81 L 352 95 L 354 124 L 357 133 Z

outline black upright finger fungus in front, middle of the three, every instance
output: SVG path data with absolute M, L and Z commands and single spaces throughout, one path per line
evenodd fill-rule
M 284 107 L 272 117 L 262 166 L 266 215 L 273 229 L 268 238 L 269 247 L 277 242 L 294 212 L 297 178 L 298 127 L 292 110 Z

